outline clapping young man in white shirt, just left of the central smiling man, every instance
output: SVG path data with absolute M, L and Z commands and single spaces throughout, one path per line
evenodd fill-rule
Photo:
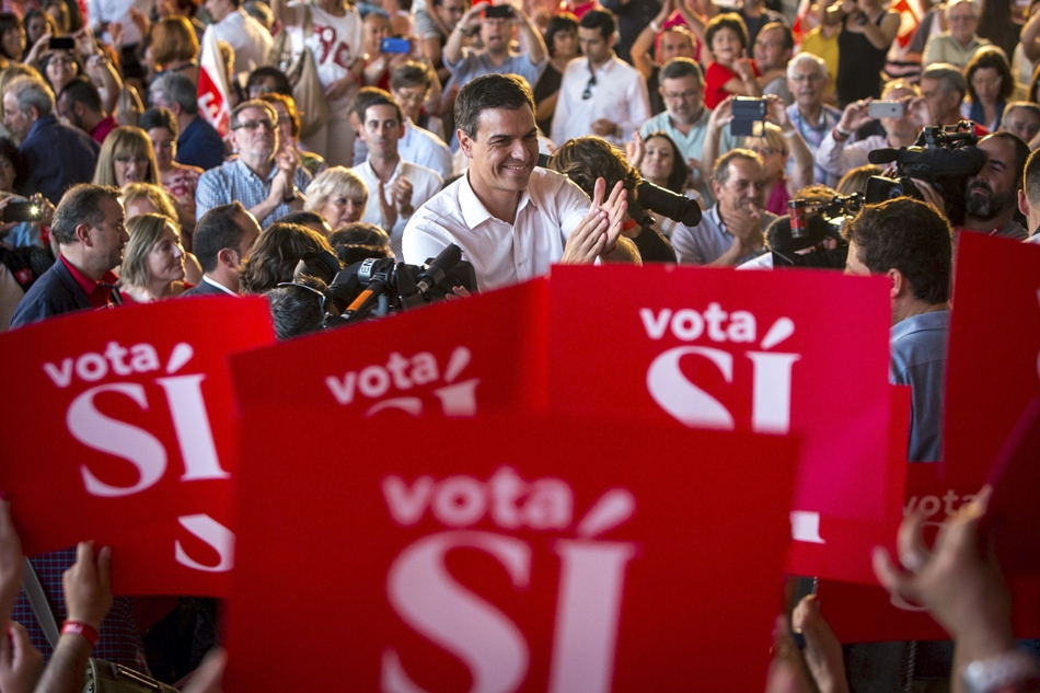
M 397 257 L 401 235 L 412 213 L 444 184 L 436 171 L 405 161 L 397 153 L 397 143 L 405 135 L 403 118 L 401 106 L 390 94 L 374 95 L 365 108 L 358 134 L 368 148 L 368 159 L 353 169 L 368 188 L 361 221 L 386 231 Z

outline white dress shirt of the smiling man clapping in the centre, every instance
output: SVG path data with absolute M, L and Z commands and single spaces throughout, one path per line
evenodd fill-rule
M 470 186 L 469 174 L 412 215 L 404 259 L 423 264 L 454 243 L 473 263 L 481 290 L 540 277 L 564 256 L 567 236 L 589 213 L 591 200 L 565 175 L 535 169 L 513 223 L 496 219 Z

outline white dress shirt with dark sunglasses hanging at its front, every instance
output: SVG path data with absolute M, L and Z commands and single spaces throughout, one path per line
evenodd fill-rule
M 575 58 L 564 70 L 553 113 L 552 140 L 557 147 L 571 137 L 592 135 L 592 124 L 601 118 L 621 126 L 620 138 L 605 138 L 621 145 L 650 117 L 646 80 L 634 67 L 612 55 L 597 68 L 594 84 L 590 84 L 591 77 L 588 58 Z M 582 99 L 587 89 L 589 99 Z

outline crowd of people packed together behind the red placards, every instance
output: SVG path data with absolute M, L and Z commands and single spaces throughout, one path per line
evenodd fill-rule
M 790 209 L 850 195 L 858 208 L 898 173 L 873 151 L 969 120 L 960 135 L 981 155 L 956 186 L 902 180 L 903 196 L 796 252 L 847 249 L 846 274 L 891 278 L 908 458 L 939 460 L 958 234 L 1040 242 L 1040 11 L 1027 5 L 914 7 L 908 31 L 908 10 L 883 0 L 818 0 L 797 18 L 774 0 L 9 0 L 0 331 L 265 294 L 289 338 L 324 324 L 326 281 L 298 272 L 314 255 L 421 265 L 454 244 L 479 290 L 556 263 L 772 267 Z M 213 69 L 227 132 L 199 99 Z M 695 201 L 700 220 L 660 194 Z M 66 552 L 41 577 L 83 561 Z M 912 589 L 880 559 L 879 575 Z M 116 600 L 109 619 L 129 612 Z M 795 619 L 827 632 L 811 600 Z M 102 647 L 113 630 L 132 626 L 102 628 Z M 103 651 L 143 667 L 131 635 Z M 845 690 L 807 639 L 816 685 Z M 853 690 L 921 678 L 913 661 L 932 656 L 910 651 L 909 668 L 899 648 L 851 658 L 868 662 L 850 668 Z M 934 659 L 949 679 L 948 654 Z

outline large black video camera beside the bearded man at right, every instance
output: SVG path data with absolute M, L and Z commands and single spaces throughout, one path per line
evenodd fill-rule
M 931 184 L 946 203 L 945 212 L 951 223 L 964 218 L 964 185 L 985 164 L 985 155 L 975 145 L 979 137 L 970 120 L 944 127 L 929 125 L 922 130 L 913 147 L 876 149 L 870 163 L 895 163 L 897 177 L 876 175 L 867 182 L 866 201 L 882 203 L 897 197 L 924 199 L 911 178 Z

